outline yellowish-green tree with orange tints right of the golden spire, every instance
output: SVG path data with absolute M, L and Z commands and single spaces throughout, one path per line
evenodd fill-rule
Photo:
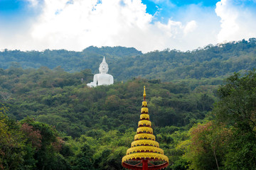
M 213 122 L 198 123 L 189 130 L 190 139 L 180 142 L 177 149 L 184 149 L 189 169 L 221 169 L 224 164 L 226 143 L 230 130 Z

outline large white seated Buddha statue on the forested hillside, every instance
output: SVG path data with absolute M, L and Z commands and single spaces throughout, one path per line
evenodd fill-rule
M 105 57 L 103 57 L 102 63 L 99 67 L 100 74 L 95 74 L 93 77 L 93 82 L 90 84 L 87 84 L 87 86 L 95 87 L 95 86 L 101 86 L 101 85 L 110 85 L 114 84 L 114 78 L 112 75 L 107 74 L 108 71 L 108 64 L 105 60 Z

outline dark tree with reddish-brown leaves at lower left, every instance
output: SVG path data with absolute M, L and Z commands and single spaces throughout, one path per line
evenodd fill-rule
M 70 169 L 70 165 L 60 154 L 64 141 L 58 137 L 57 130 L 32 118 L 21 120 L 21 125 L 31 144 L 36 146 L 33 154 L 37 161 L 36 169 Z

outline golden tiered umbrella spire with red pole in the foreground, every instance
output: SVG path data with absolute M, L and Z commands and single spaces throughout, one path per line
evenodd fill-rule
M 159 142 L 153 135 L 151 121 L 149 121 L 149 108 L 146 102 L 146 89 L 144 86 L 144 101 L 137 128 L 131 148 L 122 157 L 122 166 L 127 169 L 156 170 L 164 169 L 169 164 L 169 159 L 164 155 L 164 150 L 159 148 Z

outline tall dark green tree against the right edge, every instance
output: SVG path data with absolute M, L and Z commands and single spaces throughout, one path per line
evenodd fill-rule
M 220 101 L 213 113 L 218 123 L 230 126 L 232 140 L 226 154 L 226 169 L 256 169 L 256 70 L 244 76 L 235 73 L 218 90 Z

